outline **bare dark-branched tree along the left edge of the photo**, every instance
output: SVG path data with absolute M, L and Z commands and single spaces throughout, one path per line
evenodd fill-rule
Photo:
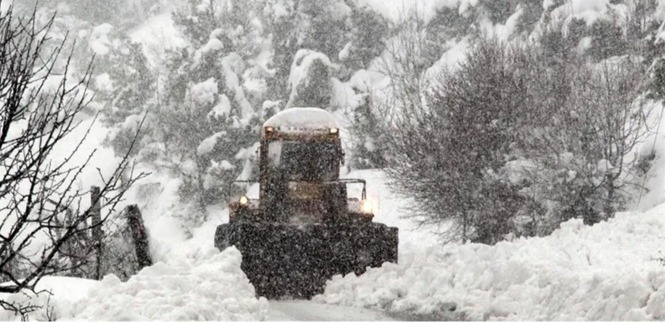
M 127 189 L 145 176 L 134 173 L 130 151 L 110 175 L 100 172 L 104 214 L 91 224 L 92 205 L 82 206 L 88 193 L 75 187 L 96 150 L 75 160 L 97 117 L 66 155 L 54 151 L 82 124 L 81 112 L 92 99 L 92 62 L 77 77 L 73 49 L 63 56 L 67 37 L 47 50 L 54 19 L 38 26 L 36 8 L 31 16 L 18 17 L 10 8 L 0 17 L 0 282 L 7 282 L 0 293 L 34 292 L 43 276 L 81 268 L 93 245 L 79 243 L 85 247 L 74 251 L 72 243 L 114 214 Z M 56 64 L 62 68 L 57 75 Z M 34 309 L 0 305 L 21 315 Z

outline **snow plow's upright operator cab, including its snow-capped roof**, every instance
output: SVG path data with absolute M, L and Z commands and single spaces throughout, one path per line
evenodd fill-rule
M 261 200 L 265 213 L 294 224 L 320 223 L 347 211 L 344 160 L 334 116 L 318 108 L 291 108 L 264 124 Z

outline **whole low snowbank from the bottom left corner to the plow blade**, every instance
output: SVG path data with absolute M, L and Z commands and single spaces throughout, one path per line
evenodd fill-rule
M 33 320 L 49 316 L 85 320 L 264 320 L 268 302 L 257 299 L 240 269 L 235 248 L 210 250 L 202 260 L 177 259 L 144 268 L 127 282 L 107 275 L 101 282 L 46 277 L 39 290 L 52 293 L 11 295 L 9 302 L 35 304 Z M 0 320 L 20 317 L 0 311 Z

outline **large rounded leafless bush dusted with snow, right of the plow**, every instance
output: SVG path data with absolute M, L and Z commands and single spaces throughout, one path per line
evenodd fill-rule
M 572 57 L 550 67 L 542 54 L 481 41 L 427 106 L 402 102 L 388 173 L 416 196 L 418 218 L 453 220 L 463 239 L 496 243 L 623 209 L 636 183 L 631 153 L 651 128 L 640 65 Z

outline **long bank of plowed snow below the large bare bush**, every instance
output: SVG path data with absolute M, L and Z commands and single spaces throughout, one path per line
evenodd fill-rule
M 400 263 L 336 276 L 318 302 L 455 319 L 665 319 L 665 206 L 544 238 L 400 250 Z M 454 305 L 452 304 L 454 303 Z

